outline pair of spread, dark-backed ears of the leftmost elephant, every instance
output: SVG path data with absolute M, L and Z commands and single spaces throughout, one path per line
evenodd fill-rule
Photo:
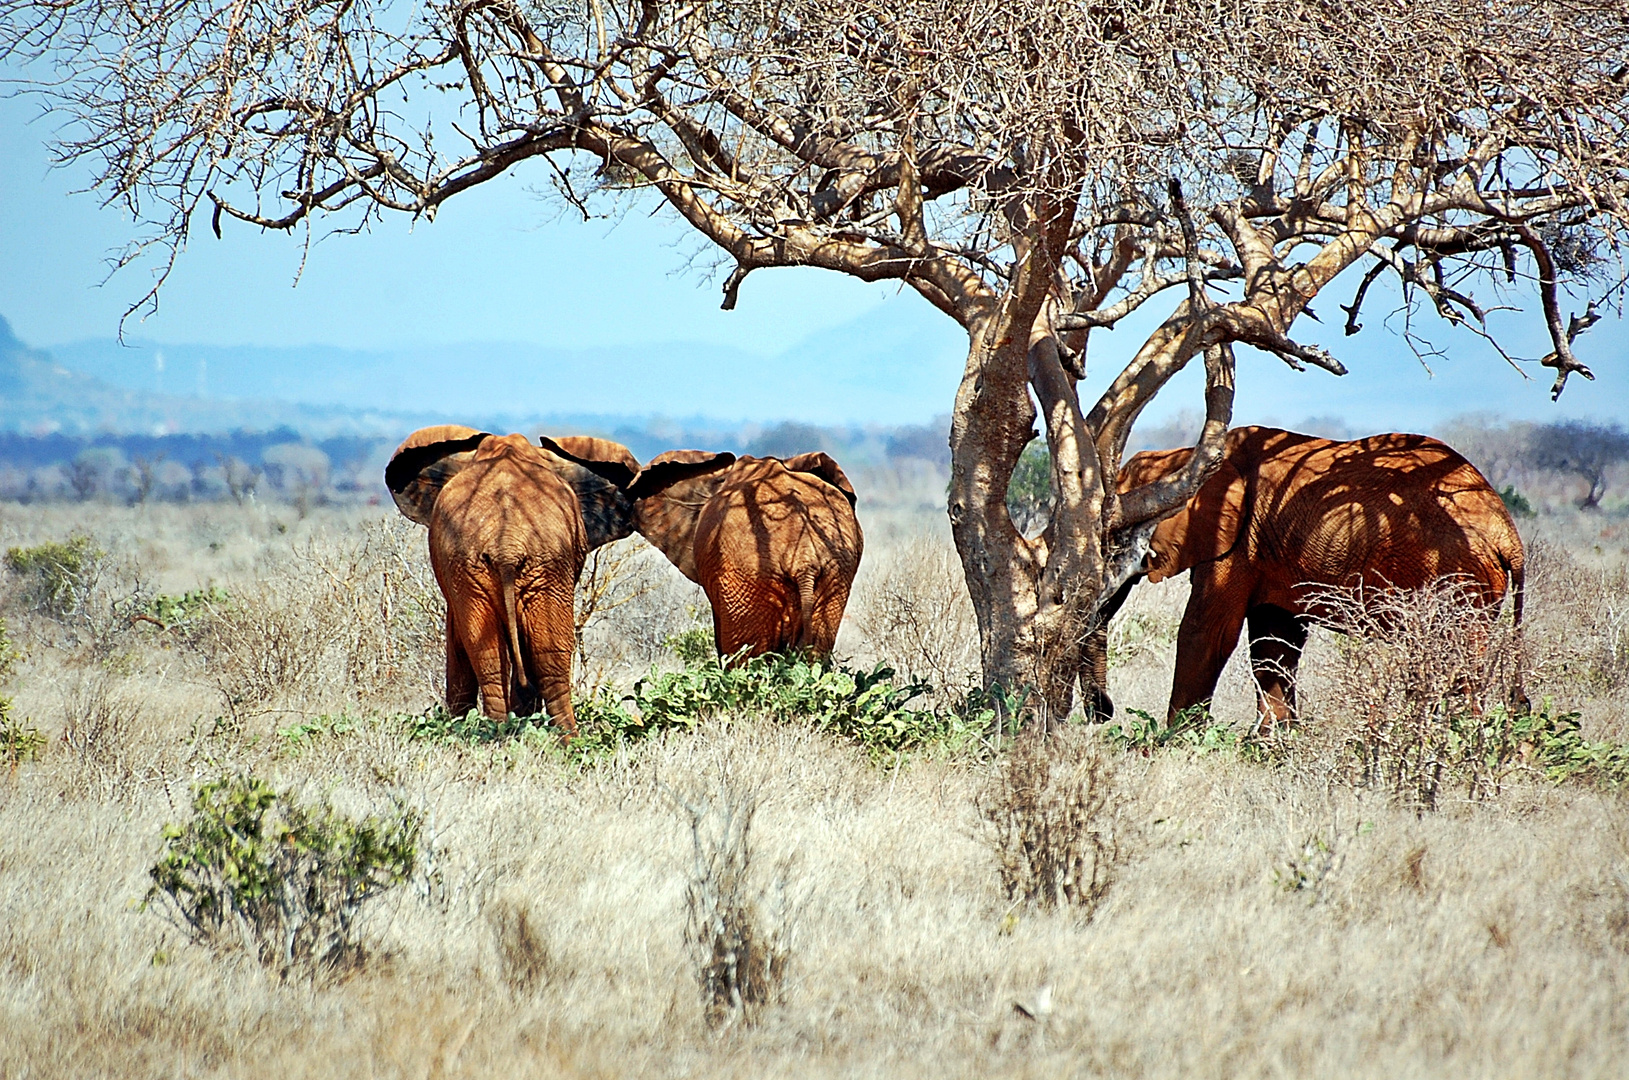
M 441 424 L 419 428 L 396 448 L 384 468 L 384 485 L 402 515 L 430 525 L 430 508 L 450 479 L 476 459 L 490 432 Z M 634 531 L 634 505 L 624 490 L 639 474 L 639 459 L 608 438 L 567 435 L 538 440 L 544 463 L 577 495 L 588 547 L 609 544 Z

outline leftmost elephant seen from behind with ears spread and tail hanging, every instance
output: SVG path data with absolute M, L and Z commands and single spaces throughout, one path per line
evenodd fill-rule
M 570 738 L 572 593 L 586 554 L 632 533 L 622 487 L 639 463 L 608 440 L 562 441 L 582 458 L 523 435 L 427 427 L 391 456 L 384 484 L 402 515 L 430 529 L 446 598 L 448 710 L 461 715 L 479 696 L 485 715 L 503 718 L 538 712 L 541 699 Z

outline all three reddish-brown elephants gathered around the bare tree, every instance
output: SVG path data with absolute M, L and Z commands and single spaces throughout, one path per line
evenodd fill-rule
M 1127 492 L 1183 468 L 1191 448 L 1126 463 Z M 570 700 L 573 588 L 590 551 L 639 531 L 707 593 L 725 656 L 831 653 L 863 536 L 849 477 L 824 453 L 751 458 L 674 450 L 640 466 L 590 437 L 414 432 L 384 482 L 428 526 L 446 596 L 446 705 L 489 717 L 542 705 L 575 731 Z M 1295 670 L 1329 588 L 1463 582 L 1484 606 L 1515 598 L 1521 538 L 1499 494 L 1445 443 L 1424 435 L 1331 441 L 1243 427 L 1184 508 L 1158 523 L 1142 573 L 1109 601 L 1087 643 L 1083 686 L 1108 697 L 1108 617 L 1137 580 L 1191 570 L 1176 639 L 1170 713 L 1205 704 L 1248 626 L 1266 720 L 1295 710 Z M 1520 691 L 1517 691 L 1520 694 Z

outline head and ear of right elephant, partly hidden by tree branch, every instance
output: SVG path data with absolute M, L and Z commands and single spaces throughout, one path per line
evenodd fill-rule
M 1135 454 L 1121 469 L 1121 494 L 1175 472 L 1188 464 L 1192 453 L 1192 448 L 1181 448 Z M 1212 562 L 1230 552 L 1238 542 L 1238 529 L 1246 516 L 1246 497 L 1245 476 L 1232 456 L 1223 458 L 1188 505 L 1153 528 L 1144 562 L 1148 580 L 1163 582 L 1196 564 Z

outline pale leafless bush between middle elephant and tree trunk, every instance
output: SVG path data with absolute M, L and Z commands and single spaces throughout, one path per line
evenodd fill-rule
M 977 678 L 979 630 L 955 549 L 912 538 L 876 559 L 868 578 L 854 608 L 878 660 L 942 694 Z

